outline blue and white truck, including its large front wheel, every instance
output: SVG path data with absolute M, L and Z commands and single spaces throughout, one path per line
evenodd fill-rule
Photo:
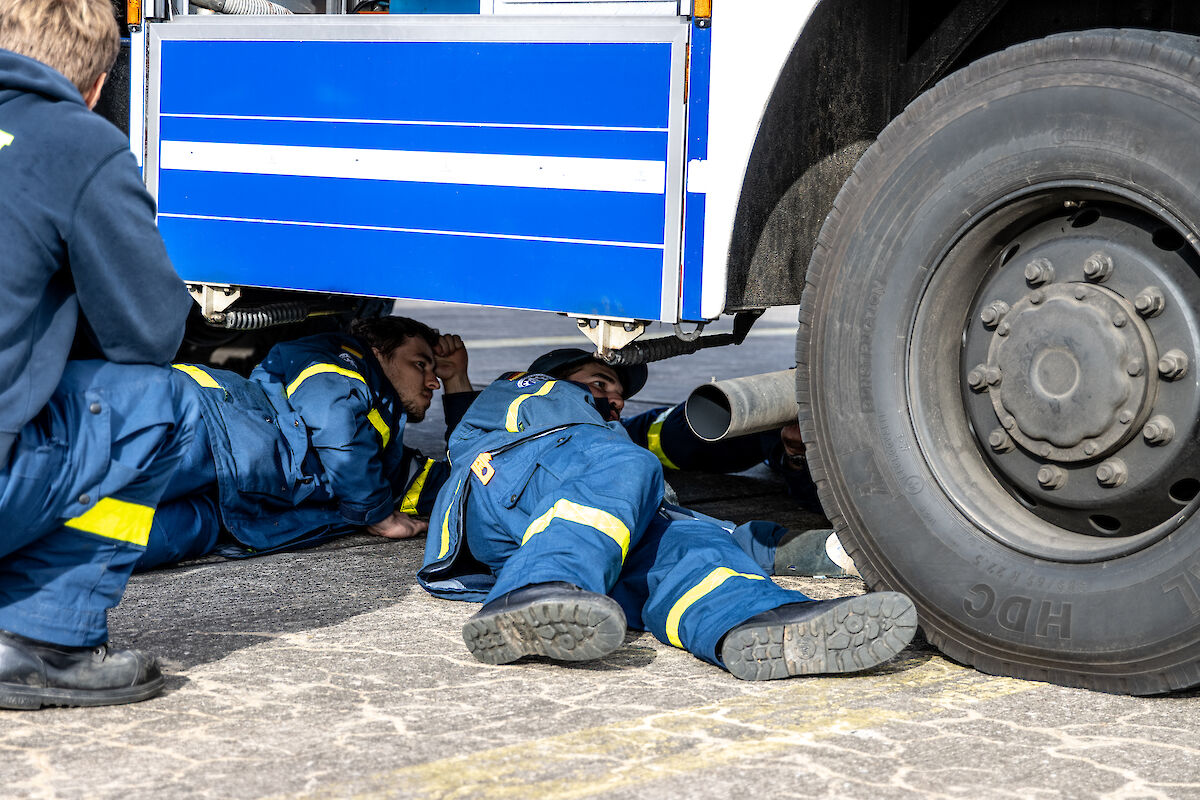
M 124 22 L 107 113 L 198 337 L 409 297 L 570 314 L 648 360 L 798 302 L 774 410 L 798 404 L 869 585 L 988 673 L 1200 684 L 1196 4 L 145 0 Z

